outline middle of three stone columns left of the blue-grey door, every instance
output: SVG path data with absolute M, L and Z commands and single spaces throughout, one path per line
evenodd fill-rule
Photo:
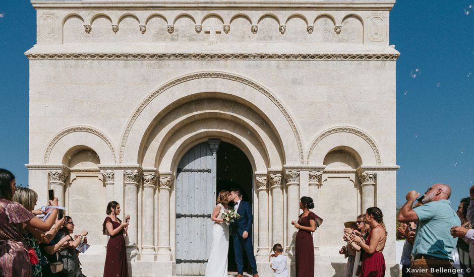
M 142 255 L 154 255 L 154 192 L 155 192 L 156 174 L 154 172 L 145 172 L 143 174 L 143 228 L 142 228 Z

